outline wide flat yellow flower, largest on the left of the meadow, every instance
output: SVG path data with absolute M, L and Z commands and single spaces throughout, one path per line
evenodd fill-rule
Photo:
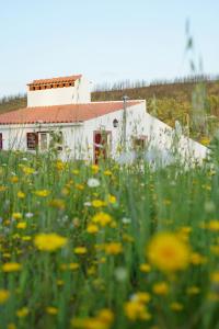
M 57 234 L 39 234 L 34 239 L 34 245 L 37 249 L 44 251 L 55 251 L 66 246 L 67 238 Z

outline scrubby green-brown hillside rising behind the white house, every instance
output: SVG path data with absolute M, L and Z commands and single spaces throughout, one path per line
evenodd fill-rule
M 174 126 L 177 120 L 186 134 L 207 144 L 219 127 L 219 81 L 205 83 L 160 83 L 141 88 L 96 91 L 92 101 L 116 101 L 127 94 L 146 99 L 148 112 Z M 0 113 L 26 106 L 25 97 L 9 98 L 0 103 Z M 203 120 L 200 120 L 203 117 Z M 201 123 L 197 124 L 197 121 Z

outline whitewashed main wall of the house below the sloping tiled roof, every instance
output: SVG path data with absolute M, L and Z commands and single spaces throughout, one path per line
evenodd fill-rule
M 94 152 L 93 133 L 101 129 L 112 132 L 112 157 L 117 158 L 118 146 L 123 138 L 123 114 L 124 111 L 120 110 L 84 123 L 43 124 L 41 128 L 38 125 L 1 125 L 0 133 L 3 134 L 3 149 L 26 150 L 26 133 L 57 129 L 64 134 L 65 145 L 61 158 L 92 160 Z M 118 127 L 113 126 L 115 118 L 118 121 Z M 148 114 L 146 102 L 142 101 L 137 105 L 127 107 L 127 149 L 131 149 L 131 138 L 141 135 L 148 137 L 150 147 L 154 146 L 162 151 L 173 147 L 175 131 Z M 185 136 L 180 136 L 177 147 L 180 155 L 185 160 L 193 158 L 201 161 L 208 152 L 205 146 Z

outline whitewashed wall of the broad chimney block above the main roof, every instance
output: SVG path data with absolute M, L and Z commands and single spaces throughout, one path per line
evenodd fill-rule
M 53 106 L 91 102 L 90 82 L 81 77 L 74 87 L 27 90 L 27 106 Z

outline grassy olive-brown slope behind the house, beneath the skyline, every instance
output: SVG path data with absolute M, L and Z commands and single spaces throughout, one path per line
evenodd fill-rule
M 219 81 L 209 81 L 205 86 L 205 107 L 208 115 L 208 128 L 200 132 L 199 127 L 189 125 L 191 135 L 200 140 L 204 136 L 211 137 L 219 127 Z M 195 89 L 194 83 L 170 83 L 132 88 L 127 90 L 93 92 L 93 101 L 122 100 L 124 94 L 130 99 L 146 99 L 148 112 L 158 116 L 166 124 L 174 126 L 180 121 L 186 126 L 191 122 L 193 105 L 192 95 Z M 12 98 L 8 102 L 0 103 L 0 113 L 25 107 L 26 98 Z

